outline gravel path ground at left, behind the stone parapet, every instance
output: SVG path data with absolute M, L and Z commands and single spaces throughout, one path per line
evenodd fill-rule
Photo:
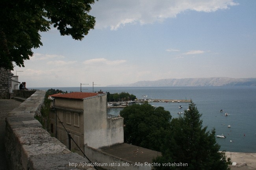
M 0 99 L 0 125 L 6 120 L 6 115 L 17 108 L 22 102 L 13 99 Z

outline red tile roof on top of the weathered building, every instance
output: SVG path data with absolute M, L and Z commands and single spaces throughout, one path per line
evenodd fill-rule
M 65 99 L 85 99 L 88 97 L 97 96 L 98 93 L 85 93 L 85 92 L 72 92 L 72 93 L 65 93 L 54 95 L 54 98 L 65 98 Z

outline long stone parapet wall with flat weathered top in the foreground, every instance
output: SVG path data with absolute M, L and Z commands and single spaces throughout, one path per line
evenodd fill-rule
M 89 163 L 51 137 L 34 116 L 40 114 L 45 91 L 36 91 L 6 117 L 6 158 L 9 170 L 74 170 Z M 93 170 L 89 166 L 81 169 Z

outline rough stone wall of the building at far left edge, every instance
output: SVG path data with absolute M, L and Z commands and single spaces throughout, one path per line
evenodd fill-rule
M 11 76 L 11 70 L 0 68 L 0 99 L 9 98 L 8 77 L 10 76 Z

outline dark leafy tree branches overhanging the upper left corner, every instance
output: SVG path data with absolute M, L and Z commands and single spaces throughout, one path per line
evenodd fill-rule
M 61 35 L 82 40 L 95 26 L 88 15 L 94 0 L 1 0 L 0 67 L 13 70 L 13 62 L 24 67 L 32 48 L 42 46 L 39 32 L 53 25 Z

